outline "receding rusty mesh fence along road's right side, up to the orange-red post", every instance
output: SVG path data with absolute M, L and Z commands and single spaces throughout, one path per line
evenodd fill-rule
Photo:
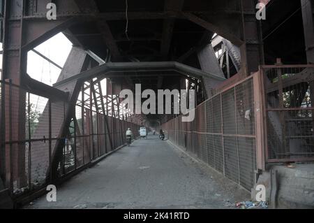
M 163 124 L 170 141 L 248 190 L 255 184 L 257 171 L 253 78 L 258 76 L 197 106 L 193 122 L 176 117 Z

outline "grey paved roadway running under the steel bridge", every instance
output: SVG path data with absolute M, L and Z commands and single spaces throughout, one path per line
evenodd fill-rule
M 188 156 L 169 141 L 149 135 L 57 187 L 24 208 L 232 208 L 250 194 Z

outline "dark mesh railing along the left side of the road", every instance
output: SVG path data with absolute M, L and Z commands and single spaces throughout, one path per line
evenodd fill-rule
M 93 102 L 72 105 L 67 99 L 33 94 L 10 80 L 1 80 L 0 88 L 0 173 L 15 199 L 90 166 L 126 143 L 127 128 L 135 137 L 140 129 L 123 115 L 100 113 Z M 63 126 L 68 126 L 64 132 Z M 55 161 L 57 178 L 52 178 Z

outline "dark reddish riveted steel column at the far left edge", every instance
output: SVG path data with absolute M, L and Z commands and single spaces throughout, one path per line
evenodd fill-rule
M 27 67 L 27 53 L 22 50 L 23 43 L 23 0 L 6 0 L 4 3 L 3 16 L 3 72 L 1 80 L 10 79 L 14 85 L 23 85 L 23 77 Z M 22 89 L 14 89 L 15 99 L 12 101 L 13 108 L 10 115 L 19 117 L 18 122 L 12 123 L 11 139 L 15 141 L 25 139 L 25 119 L 26 119 L 26 93 Z M 3 138 L 8 141 L 8 138 Z M 13 168 L 17 187 L 27 185 L 25 173 L 25 144 L 15 143 L 11 145 L 13 153 Z M 8 182 L 8 181 L 7 181 Z M 7 185 L 8 186 L 8 185 Z

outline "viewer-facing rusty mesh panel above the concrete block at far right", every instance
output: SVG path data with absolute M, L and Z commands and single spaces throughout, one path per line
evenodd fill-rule
M 267 161 L 314 160 L 314 66 L 262 66 Z

